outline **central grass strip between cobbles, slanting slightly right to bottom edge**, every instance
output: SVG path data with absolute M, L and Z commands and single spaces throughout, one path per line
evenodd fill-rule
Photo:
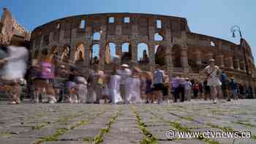
M 136 111 L 136 107 L 131 106 L 131 109 L 132 109 L 132 113 L 135 115 L 135 118 L 137 118 L 138 128 L 145 135 L 145 137 L 143 138 L 143 140 L 140 143 L 142 143 L 142 144 L 156 144 L 157 139 L 153 136 L 153 134 L 151 134 L 148 131 L 148 129 L 146 129 L 146 124 L 144 124 L 143 121 L 141 121 L 140 115 Z

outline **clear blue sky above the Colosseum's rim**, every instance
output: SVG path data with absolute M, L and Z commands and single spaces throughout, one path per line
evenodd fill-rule
M 256 56 L 255 0 L 1 0 L 3 7 L 30 31 L 70 15 L 143 12 L 184 17 L 193 32 L 238 43 L 239 38 L 230 34 L 230 27 L 238 25 Z

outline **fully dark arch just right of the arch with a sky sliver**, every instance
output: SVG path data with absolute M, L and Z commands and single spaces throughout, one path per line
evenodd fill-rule
M 181 48 L 173 45 L 172 49 L 173 67 L 181 67 Z

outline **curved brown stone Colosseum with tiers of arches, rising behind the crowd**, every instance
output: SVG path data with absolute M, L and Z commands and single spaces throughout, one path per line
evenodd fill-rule
M 238 83 L 255 88 L 255 64 L 245 39 L 225 39 L 190 31 L 187 19 L 140 13 L 102 13 L 53 20 L 31 33 L 31 56 L 59 49 L 87 72 L 93 64 L 108 71 L 113 55 L 122 63 L 137 61 L 141 69 L 159 64 L 170 75 L 203 79 L 209 58 Z

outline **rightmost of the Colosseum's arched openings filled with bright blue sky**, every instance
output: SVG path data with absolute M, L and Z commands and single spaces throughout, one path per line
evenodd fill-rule
M 146 43 L 139 43 L 138 44 L 138 62 L 139 64 L 148 64 L 149 58 L 148 58 L 148 45 Z

